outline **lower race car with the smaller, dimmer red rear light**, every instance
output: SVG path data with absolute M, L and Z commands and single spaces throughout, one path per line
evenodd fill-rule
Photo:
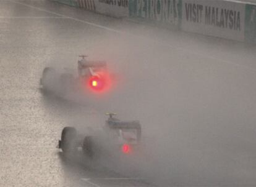
M 77 130 L 64 127 L 58 148 L 64 154 L 82 153 L 89 157 L 114 154 L 132 154 L 140 144 L 142 130 L 139 121 L 120 121 L 115 113 L 106 113 L 108 120 L 101 129 Z

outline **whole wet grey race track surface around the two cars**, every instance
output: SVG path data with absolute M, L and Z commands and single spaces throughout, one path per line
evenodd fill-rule
M 105 17 L 51 1 L 0 0 L 0 186 L 256 186 L 256 49 Z M 40 90 L 43 68 L 106 60 L 102 98 Z M 66 159 L 63 127 L 142 124 L 143 154 L 121 167 Z

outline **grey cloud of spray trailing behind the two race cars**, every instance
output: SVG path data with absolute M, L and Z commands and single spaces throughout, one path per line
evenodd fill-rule
M 105 112 L 139 120 L 142 153 L 114 166 L 126 175 L 160 186 L 255 184 L 253 57 L 244 46 L 219 41 L 223 45 L 215 47 L 209 44 L 213 39 L 193 35 L 175 47 L 164 41 L 164 32 L 130 28 L 118 38 L 105 33 L 95 39 L 87 50 L 90 59 L 106 60 L 121 81 L 101 98 L 69 95 L 90 111 L 86 122 L 82 111 L 69 121 L 80 128 L 100 126 Z M 182 34 L 174 36 L 178 44 Z

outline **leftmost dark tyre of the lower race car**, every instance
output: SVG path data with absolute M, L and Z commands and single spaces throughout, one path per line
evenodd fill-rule
M 61 149 L 63 153 L 73 153 L 76 146 L 77 130 L 74 127 L 64 127 L 61 133 Z

